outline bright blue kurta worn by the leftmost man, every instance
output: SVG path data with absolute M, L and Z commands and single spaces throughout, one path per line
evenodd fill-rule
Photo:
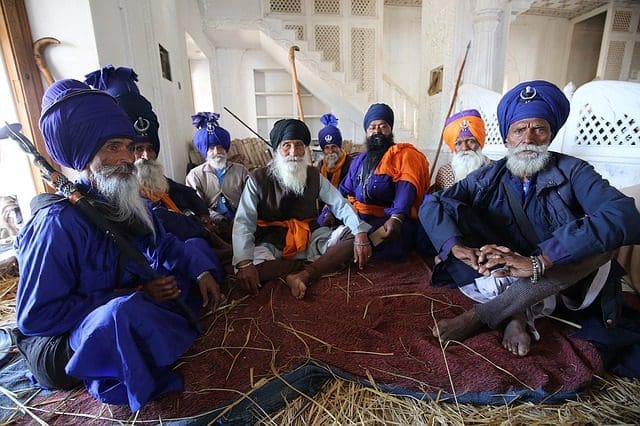
M 194 280 L 216 264 L 197 245 L 177 240 L 156 222 L 131 237 L 158 275 L 173 275 L 197 314 Z M 66 200 L 38 211 L 16 240 L 20 265 L 16 314 L 27 336 L 69 334 L 75 351 L 66 366 L 98 400 L 133 411 L 156 395 L 180 390 L 171 365 L 196 332 L 172 302 L 156 303 L 133 288 L 152 277 L 129 262 L 120 276 L 115 244 Z

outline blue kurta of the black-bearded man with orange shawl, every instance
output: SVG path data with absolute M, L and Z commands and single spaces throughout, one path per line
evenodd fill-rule
M 383 217 L 359 213 L 360 219 L 371 225 L 369 233 L 382 226 L 392 214 L 405 215 L 400 237 L 383 241 L 373 251 L 373 258 L 405 258 L 414 247 L 416 222 L 409 218 L 409 214 L 416 197 L 416 187 L 410 182 L 403 180 L 394 182 L 390 176 L 375 173 L 371 173 L 367 179 L 364 179 L 361 174 L 366 156 L 366 152 L 359 154 L 351 162 L 349 172 L 342 179 L 338 189 L 344 197 L 351 195 L 361 203 L 384 207 Z

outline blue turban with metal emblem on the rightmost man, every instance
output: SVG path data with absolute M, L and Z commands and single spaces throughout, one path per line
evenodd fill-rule
M 568 116 L 569 100 L 555 84 L 544 80 L 518 84 L 498 104 L 500 134 L 505 142 L 509 126 L 525 118 L 546 120 L 551 127 L 553 140 Z

